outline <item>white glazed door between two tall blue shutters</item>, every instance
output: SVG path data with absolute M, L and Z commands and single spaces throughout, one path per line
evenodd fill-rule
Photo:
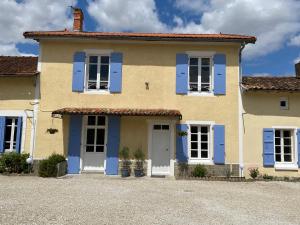
M 106 118 L 88 116 L 85 122 L 85 145 L 83 147 L 83 171 L 104 171 L 106 152 Z

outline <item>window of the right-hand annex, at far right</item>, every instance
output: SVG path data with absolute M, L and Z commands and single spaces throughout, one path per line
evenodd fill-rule
M 293 130 L 275 130 L 275 162 L 292 163 L 293 162 Z

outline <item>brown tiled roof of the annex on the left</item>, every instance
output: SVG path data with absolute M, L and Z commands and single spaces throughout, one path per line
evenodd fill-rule
M 0 76 L 33 76 L 37 65 L 37 57 L 0 56 Z

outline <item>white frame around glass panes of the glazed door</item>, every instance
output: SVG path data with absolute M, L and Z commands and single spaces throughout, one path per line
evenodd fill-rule
M 95 125 L 88 125 L 88 117 L 89 116 L 95 116 L 96 120 L 95 120 Z M 86 116 L 85 121 L 84 121 L 84 142 L 83 142 L 83 151 L 84 153 L 102 153 L 106 155 L 106 144 L 107 144 L 107 123 L 108 123 L 108 118 L 106 116 L 101 116 L 101 115 L 89 115 Z M 98 121 L 98 116 L 104 117 L 105 118 L 105 125 L 97 125 L 97 121 Z M 87 130 L 88 129 L 94 129 L 95 130 L 95 140 L 94 140 L 94 151 L 93 152 L 87 152 L 86 151 L 86 146 L 91 146 L 91 145 L 87 145 L 86 141 L 87 141 Z M 103 148 L 103 152 L 96 152 L 96 147 L 97 146 L 102 146 L 102 145 L 97 145 L 97 129 L 104 129 L 104 148 Z

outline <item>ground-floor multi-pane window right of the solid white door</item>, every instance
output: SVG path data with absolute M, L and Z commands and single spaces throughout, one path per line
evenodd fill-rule
M 189 131 L 190 159 L 210 159 L 210 126 L 191 125 Z

